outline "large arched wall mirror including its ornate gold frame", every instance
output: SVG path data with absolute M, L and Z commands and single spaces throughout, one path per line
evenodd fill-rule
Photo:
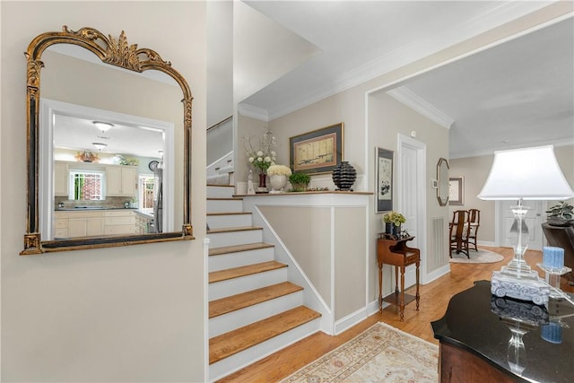
M 64 27 L 25 55 L 21 255 L 193 239 L 192 96 L 181 74 L 123 31 Z

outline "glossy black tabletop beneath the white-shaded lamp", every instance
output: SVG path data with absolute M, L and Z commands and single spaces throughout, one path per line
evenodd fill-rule
M 440 343 L 474 353 L 517 379 L 574 380 L 574 306 L 568 300 L 551 298 L 538 306 L 499 298 L 491 294 L 490 282 L 478 281 L 453 296 L 445 316 L 431 325 Z M 517 362 L 509 347 L 511 329 L 525 333 Z

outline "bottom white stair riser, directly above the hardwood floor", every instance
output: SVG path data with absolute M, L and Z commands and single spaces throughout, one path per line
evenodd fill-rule
M 209 381 L 222 379 L 231 372 L 237 371 L 254 361 L 259 361 L 265 356 L 283 349 L 289 344 L 294 344 L 301 339 L 314 334 L 319 329 L 319 320 L 312 320 L 305 325 L 295 327 L 282 335 L 277 335 L 264 343 L 257 344 L 241 353 L 231 355 L 222 361 L 217 361 L 209 366 Z

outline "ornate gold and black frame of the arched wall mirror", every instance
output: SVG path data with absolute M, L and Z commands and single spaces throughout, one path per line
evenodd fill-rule
M 151 233 L 105 238 L 78 238 L 61 240 L 41 240 L 39 232 L 39 100 L 40 69 L 44 66 L 41 56 L 44 50 L 54 44 L 73 44 L 90 50 L 100 58 L 102 63 L 116 65 L 130 71 L 143 73 L 157 70 L 173 78 L 183 91 L 184 108 L 184 166 L 183 166 L 183 225 L 182 231 Z M 107 248 L 135 245 L 169 240 L 194 239 L 191 226 L 191 101 L 193 97 L 186 80 L 164 61 L 161 56 L 149 48 L 137 48 L 136 44 L 128 45 L 125 32 L 122 30 L 119 39 L 104 36 L 99 30 L 82 28 L 46 32 L 32 39 L 24 53 L 27 60 L 26 71 L 26 107 L 27 116 L 27 152 L 28 152 L 28 194 L 26 213 L 26 234 L 24 249 L 21 255 L 42 254 L 52 251 L 77 250 L 85 248 Z

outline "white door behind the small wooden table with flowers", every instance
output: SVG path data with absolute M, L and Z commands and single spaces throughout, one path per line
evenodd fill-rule
M 410 137 L 399 136 L 399 158 L 396 179 L 398 181 L 398 196 L 395 210 L 403 213 L 406 222 L 402 229 L 414 237 L 407 242 L 411 248 L 421 249 L 424 243 L 424 144 Z M 421 257 L 423 251 L 421 251 Z M 422 263 L 420 272 L 422 274 Z M 416 282 L 416 268 L 410 265 L 404 274 L 404 286 L 412 286 Z M 420 281 L 422 282 L 422 281 Z

